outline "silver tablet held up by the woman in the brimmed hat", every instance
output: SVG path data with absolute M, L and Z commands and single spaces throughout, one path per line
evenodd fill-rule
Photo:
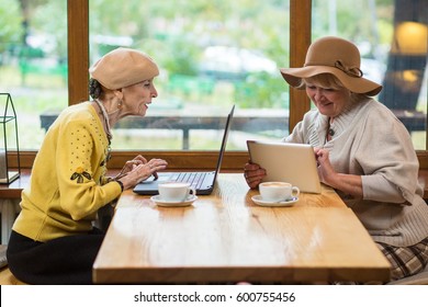
M 314 148 L 307 144 L 247 140 L 254 163 L 266 169 L 264 181 L 284 181 L 301 192 L 320 193 Z

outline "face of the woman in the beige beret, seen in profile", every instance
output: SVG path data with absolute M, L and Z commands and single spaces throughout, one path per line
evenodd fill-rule
M 121 117 L 127 115 L 145 116 L 148 105 L 157 95 L 158 92 L 153 79 L 123 88 Z

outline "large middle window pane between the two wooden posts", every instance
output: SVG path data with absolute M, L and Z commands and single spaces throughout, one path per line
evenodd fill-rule
M 289 126 L 289 1 L 89 1 L 90 59 L 133 47 L 159 65 L 145 118 L 122 120 L 113 149 L 217 150 L 233 104 L 228 150 L 279 139 Z

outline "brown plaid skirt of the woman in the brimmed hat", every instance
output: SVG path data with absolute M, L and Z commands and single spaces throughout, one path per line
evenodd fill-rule
M 391 262 L 391 280 L 396 281 L 419 273 L 428 263 L 428 238 L 419 243 L 397 248 L 375 242 Z

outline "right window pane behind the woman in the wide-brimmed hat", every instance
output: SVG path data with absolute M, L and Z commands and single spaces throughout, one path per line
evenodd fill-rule
M 361 13 L 370 12 L 370 13 Z M 383 86 L 378 100 L 427 148 L 426 0 L 314 0 L 312 38 L 338 35 L 354 42 L 364 76 Z

